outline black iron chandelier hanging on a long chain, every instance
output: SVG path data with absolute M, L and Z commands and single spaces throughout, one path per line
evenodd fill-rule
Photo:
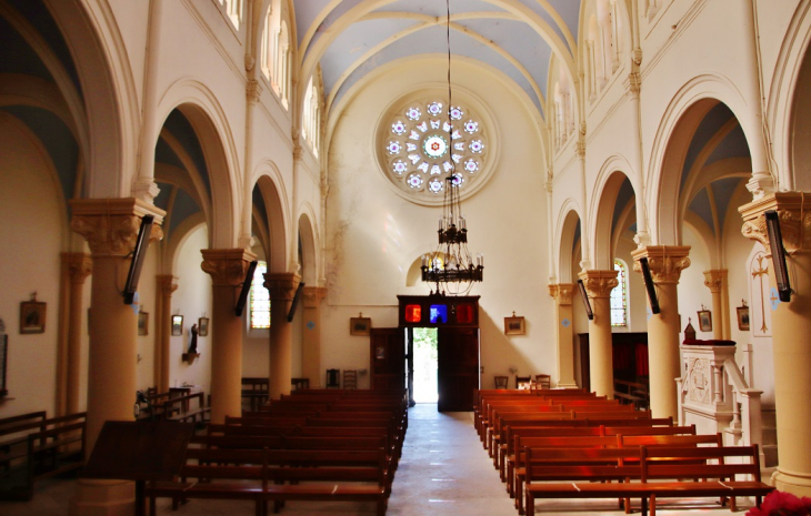
M 447 0 L 448 19 L 448 133 L 453 134 L 453 95 L 451 92 L 451 7 Z M 434 144 L 440 144 L 439 142 Z M 468 222 L 461 210 L 459 188 L 463 178 L 455 170 L 453 160 L 449 161 L 450 170 L 445 178 L 444 198 L 442 200 L 442 217 L 439 220 L 439 246 L 430 254 L 422 256 L 422 281 L 437 284 L 437 294 L 467 294 L 474 282 L 482 281 L 484 274 L 484 256 L 475 259 L 468 251 Z M 434 294 L 431 291 L 431 294 Z

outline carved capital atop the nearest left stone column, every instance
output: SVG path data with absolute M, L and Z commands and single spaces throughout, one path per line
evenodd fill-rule
M 144 215 L 154 216 L 150 243 L 163 237 L 160 224 L 166 212 L 140 199 L 74 199 L 70 208 L 73 212 L 70 226 L 84 236 L 93 256 L 128 255 L 136 249 Z

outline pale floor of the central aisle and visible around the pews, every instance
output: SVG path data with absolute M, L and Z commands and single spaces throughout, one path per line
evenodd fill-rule
M 68 500 L 73 495 L 76 480 L 47 480 L 38 485 L 37 495 L 29 503 L 0 502 L 2 516 L 62 516 L 68 514 Z M 741 504 L 743 500 L 739 500 Z M 561 500 L 538 505 L 544 516 L 611 515 L 613 499 L 593 502 Z M 745 510 L 739 509 L 738 515 Z M 372 504 L 291 502 L 281 515 L 373 515 Z M 690 500 L 665 505 L 658 510 L 668 516 L 727 516 L 733 513 L 711 500 Z M 251 516 L 250 503 L 232 500 L 191 500 L 172 513 L 168 500 L 159 504 L 162 516 Z M 409 409 L 409 431 L 403 456 L 394 478 L 390 516 L 512 516 L 518 513 L 504 485 L 499 480 L 492 461 L 482 448 L 473 429 L 471 413 L 437 412 L 437 405 L 418 405 Z M 639 514 L 639 512 L 637 512 Z

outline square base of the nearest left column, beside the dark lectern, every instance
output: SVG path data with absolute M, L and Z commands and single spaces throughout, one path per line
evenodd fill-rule
M 136 483 L 130 480 L 79 480 L 70 500 L 70 516 L 132 516 Z

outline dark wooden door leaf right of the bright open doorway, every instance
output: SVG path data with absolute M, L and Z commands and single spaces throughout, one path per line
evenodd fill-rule
M 472 411 L 479 388 L 479 328 L 439 328 L 437 368 L 439 412 Z

